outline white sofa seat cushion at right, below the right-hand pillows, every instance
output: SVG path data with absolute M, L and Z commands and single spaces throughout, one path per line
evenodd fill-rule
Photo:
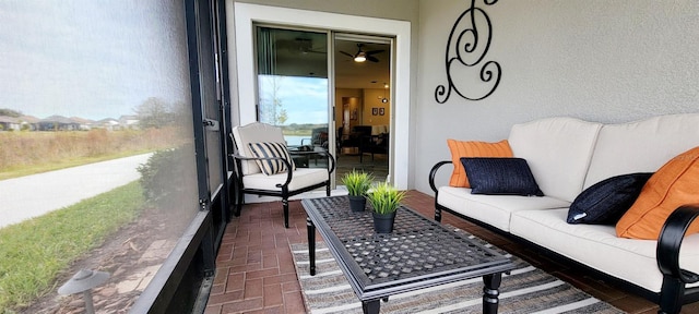
M 570 225 L 568 208 L 512 213 L 512 234 L 633 285 L 659 292 L 656 241 L 617 238 L 614 226 Z M 683 242 L 680 266 L 699 271 L 699 234 Z M 686 250 L 685 250 L 686 249 Z M 692 285 L 697 286 L 697 285 Z M 688 286 L 688 287 L 692 287 Z

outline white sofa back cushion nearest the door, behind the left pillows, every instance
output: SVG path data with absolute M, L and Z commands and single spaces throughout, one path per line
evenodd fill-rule
M 582 192 L 601 123 L 574 118 L 546 118 L 516 124 L 508 142 L 523 158 L 546 196 L 568 202 Z

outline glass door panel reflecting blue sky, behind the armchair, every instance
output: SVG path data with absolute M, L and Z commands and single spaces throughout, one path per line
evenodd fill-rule
M 258 120 L 282 128 L 289 149 L 329 142 L 328 34 L 257 27 Z M 295 160 L 321 167 L 323 160 Z

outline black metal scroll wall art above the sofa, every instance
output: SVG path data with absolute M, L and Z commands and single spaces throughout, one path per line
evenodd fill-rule
M 485 5 L 493 5 L 498 0 L 483 2 Z M 482 63 L 488 53 L 491 36 L 493 25 L 488 14 L 472 0 L 471 8 L 461 13 L 449 34 L 445 53 L 449 84 L 439 85 L 435 89 L 437 102 L 445 104 L 452 92 L 469 100 L 481 100 L 495 92 L 500 84 L 500 63 Z

